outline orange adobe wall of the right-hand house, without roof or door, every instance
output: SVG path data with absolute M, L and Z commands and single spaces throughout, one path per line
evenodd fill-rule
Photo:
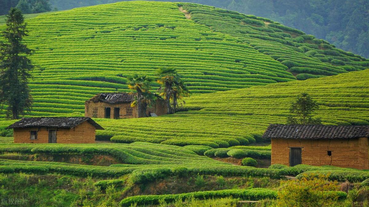
M 272 139 L 272 164 L 289 166 L 290 147 L 301 147 L 302 164 L 369 169 L 368 138 Z M 332 151 L 328 156 L 327 151 Z

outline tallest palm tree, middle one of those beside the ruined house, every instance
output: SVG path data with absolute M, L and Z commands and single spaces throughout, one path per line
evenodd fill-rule
M 162 67 L 156 70 L 156 75 L 158 76 L 156 82 L 162 85 L 158 90 L 161 91 L 160 95 L 164 97 L 166 107 L 169 110 L 169 114 L 171 114 L 173 112 L 170 106 L 170 99 L 173 99 L 175 84 L 179 79 L 177 71 L 172 67 Z

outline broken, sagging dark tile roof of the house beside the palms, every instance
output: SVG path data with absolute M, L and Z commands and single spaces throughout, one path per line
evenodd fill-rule
M 107 102 L 107 103 L 131 103 L 134 101 L 134 95 L 130 93 L 101 93 L 89 99 L 93 102 Z

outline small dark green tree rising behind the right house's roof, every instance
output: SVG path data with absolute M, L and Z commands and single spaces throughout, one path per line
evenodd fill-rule
M 311 115 L 317 109 L 319 109 L 318 103 L 309 94 L 299 94 L 291 105 L 287 124 L 321 124 L 320 118 L 313 118 Z

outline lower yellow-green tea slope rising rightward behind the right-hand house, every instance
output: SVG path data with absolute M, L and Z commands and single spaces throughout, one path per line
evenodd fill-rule
M 225 148 L 261 139 L 270 123 L 285 123 L 290 103 L 301 92 L 320 104 L 324 124 L 369 124 L 369 70 L 306 81 L 193 95 L 175 115 L 143 119 L 97 119 L 106 130 L 99 137 L 116 142 L 148 141 Z

